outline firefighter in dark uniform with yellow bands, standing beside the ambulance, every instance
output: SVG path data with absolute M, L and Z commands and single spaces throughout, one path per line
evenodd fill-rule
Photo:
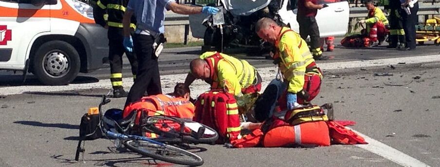
M 122 41 L 124 40 L 124 30 L 122 19 L 126 11 L 128 0 L 98 0 L 96 7 L 93 8 L 93 18 L 95 22 L 108 28 L 107 37 L 109 38 L 109 60 L 110 60 L 110 81 L 113 87 L 113 97 L 127 97 L 127 92 L 122 86 L 122 56 L 125 53 L 131 64 L 133 79 L 136 79 L 138 61 L 134 52 L 126 51 Z M 105 20 L 104 15 L 108 15 Z M 130 27 L 136 28 L 136 19 L 131 18 Z

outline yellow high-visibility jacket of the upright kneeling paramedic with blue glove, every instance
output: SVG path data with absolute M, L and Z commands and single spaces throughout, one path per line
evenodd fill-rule
M 278 48 L 278 54 L 275 55 L 279 55 L 281 60 L 278 66 L 284 80 L 289 82 L 287 91 L 298 93 L 304 86 L 306 67 L 315 61 L 309 47 L 298 33 L 287 27 L 282 28 L 275 45 Z

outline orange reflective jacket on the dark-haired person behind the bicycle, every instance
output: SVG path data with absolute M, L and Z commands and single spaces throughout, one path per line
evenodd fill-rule
M 192 119 L 195 107 L 194 104 L 183 97 L 158 94 L 145 96 L 140 101 L 131 103 L 124 109 L 123 117 L 125 118 L 134 110 L 142 110 L 149 116 L 164 114 Z M 135 124 L 139 124 L 140 116 L 141 112 L 138 112 Z

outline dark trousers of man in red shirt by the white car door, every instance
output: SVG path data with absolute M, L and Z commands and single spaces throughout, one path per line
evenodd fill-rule
M 307 37 L 310 36 L 309 46 L 311 47 L 313 56 L 321 56 L 322 51 L 319 42 L 319 28 L 315 17 L 304 17 L 298 15 L 296 20 L 299 24 L 299 35 L 301 38 L 307 39 Z

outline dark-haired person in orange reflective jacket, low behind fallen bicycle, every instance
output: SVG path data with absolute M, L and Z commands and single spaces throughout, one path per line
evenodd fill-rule
M 139 125 L 142 112 L 144 116 L 168 115 L 191 120 L 194 117 L 194 104 L 190 102 L 190 90 L 183 83 L 174 87 L 174 92 L 144 96 L 140 101 L 129 104 L 123 111 L 123 118 L 130 116 L 134 111 L 138 112 L 135 124 Z M 147 133 L 147 137 L 156 137 L 153 133 Z

